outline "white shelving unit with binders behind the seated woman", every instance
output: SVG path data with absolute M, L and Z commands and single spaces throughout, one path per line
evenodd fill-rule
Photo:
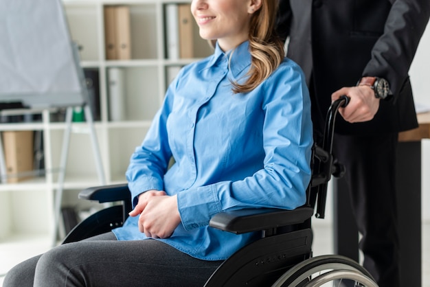
M 166 17 L 168 3 L 190 3 L 172 0 L 64 0 L 65 13 L 73 41 L 80 46 L 81 65 L 95 69 L 99 76 L 100 121 L 95 130 L 102 155 L 106 183 L 124 183 L 128 160 L 142 142 L 152 117 L 163 101 L 167 87 L 168 67 L 183 66 L 212 54 L 212 48 L 199 37 L 194 24 L 195 58 L 170 60 L 166 57 Z M 131 22 L 131 60 L 106 60 L 104 51 L 104 6 L 127 5 Z M 126 92 L 122 101 L 126 116 L 120 122 L 109 117 L 108 71 L 122 68 Z M 73 123 L 69 157 L 65 174 L 67 192 L 100 185 L 93 150 L 85 123 Z M 49 124 L 0 124 L 3 130 L 43 130 L 45 167 L 43 177 L 20 183 L 0 184 L 0 242 L 13 233 L 54 232 L 54 192 L 65 130 L 62 122 Z M 48 149 L 47 149 L 48 147 Z

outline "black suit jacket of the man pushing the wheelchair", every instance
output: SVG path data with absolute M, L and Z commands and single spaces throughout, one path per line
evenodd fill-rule
M 390 100 L 381 100 L 370 122 L 349 124 L 339 117 L 337 132 L 360 135 L 418 126 L 408 71 L 429 20 L 429 0 L 279 3 L 277 30 L 282 38 L 289 36 L 287 56 L 315 89 L 314 121 L 324 120 L 333 92 L 355 86 L 362 76 L 377 76 L 388 80 Z

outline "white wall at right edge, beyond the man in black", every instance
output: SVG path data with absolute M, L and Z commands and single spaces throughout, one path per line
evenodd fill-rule
M 421 38 L 410 69 L 414 100 L 430 106 L 430 25 Z M 430 220 L 430 139 L 422 141 L 422 219 Z

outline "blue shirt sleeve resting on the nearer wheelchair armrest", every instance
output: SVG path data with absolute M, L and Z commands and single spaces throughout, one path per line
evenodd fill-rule
M 185 229 L 209 224 L 220 211 L 246 207 L 295 209 L 306 202 L 313 145 L 310 99 L 302 70 L 278 69 L 264 82 L 264 168 L 240 181 L 179 192 Z

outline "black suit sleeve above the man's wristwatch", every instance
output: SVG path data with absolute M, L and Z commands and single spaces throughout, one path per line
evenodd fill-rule
M 363 76 L 389 81 L 394 96 L 407 79 L 411 62 L 430 14 L 429 0 L 392 0 L 383 35 L 378 38 Z

